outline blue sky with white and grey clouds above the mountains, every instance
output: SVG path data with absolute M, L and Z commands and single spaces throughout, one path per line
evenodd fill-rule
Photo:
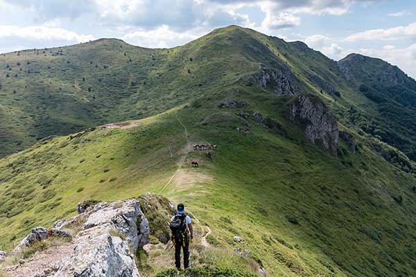
M 166 48 L 236 24 L 333 60 L 380 57 L 416 78 L 414 0 L 0 0 L 0 53 L 101 37 Z

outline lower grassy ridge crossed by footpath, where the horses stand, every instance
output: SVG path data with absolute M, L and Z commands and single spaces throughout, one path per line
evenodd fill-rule
M 262 95 L 269 100 L 259 100 Z M 72 141 L 58 137 L 3 159 L 1 208 L 15 208 L 0 223 L 1 242 L 10 246 L 16 230 L 12 242 L 33 226 L 72 215 L 83 199 L 126 199 L 150 191 L 184 201 L 211 227 L 211 244 L 249 249 L 271 276 L 413 274 L 412 175 L 390 166 L 365 143 L 356 155 L 344 157 L 311 145 L 279 111 L 288 98 L 262 91 L 234 96 L 250 103 L 246 111 L 272 116 L 286 135 L 248 120 L 252 134 L 245 136 L 235 129 L 245 121 L 235 116 L 240 110 L 220 109 L 215 100 L 204 101 L 203 108 L 191 103 L 134 129 L 97 129 Z M 186 144 L 177 118 L 191 142 L 218 145 L 212 160 L 191 152 L 183 167 L 192 175 L 196 169 L 189 163 L 198 159 L 197 173 L 210 181 L 197 179 L 183 188 L 174 180 L 164 186 Z M 41 171 L 44 165 L 48 168 Z M 401 204 L 395 200 L 399 195 Z M 235 242 L 234 235 L 243 242 Z

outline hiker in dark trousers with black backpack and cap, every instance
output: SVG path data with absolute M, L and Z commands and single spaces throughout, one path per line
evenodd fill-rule
M 193 239 L 191 217 L 184 213 L 185 206 L 177 204 L 177 215 L 171 219 L 171 240 L 175 245 L 175 266 L 180 270 L 180 249 L 184 253 L 184 269 L 189 267 L 189 243 Z

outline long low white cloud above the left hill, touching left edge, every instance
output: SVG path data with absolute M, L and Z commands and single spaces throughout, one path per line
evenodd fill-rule
M 94 39 L 92 35 L 79 35 L 63 28 L 51 28 L 48 26 L 18 27 L 0 25 L 0 38 L 12 37 L 32 40 L 59 40 L 78 43 Z

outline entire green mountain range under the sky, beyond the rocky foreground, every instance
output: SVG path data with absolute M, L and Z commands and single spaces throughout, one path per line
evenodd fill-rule
M 416 82 L 396 66 L 229 26 L 7 53 L 0 84 L 0 250 L 78 202 L 150 192 L 248 271 L 416 275 Z M 171 266 L 138 257 L 146 276 Z

